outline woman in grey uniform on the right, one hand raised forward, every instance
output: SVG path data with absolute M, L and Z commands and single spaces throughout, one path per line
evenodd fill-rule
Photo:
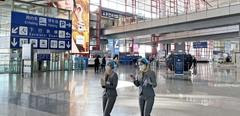
M 139 87 L 139 106 L 141 116 L 150 116 L 154 104 L 157 86 L 155 72 L 150 69 L 149 61 L 145 58 L 139 60 L 139 72 L 137 76 L 130 75 L 134 84 Z

